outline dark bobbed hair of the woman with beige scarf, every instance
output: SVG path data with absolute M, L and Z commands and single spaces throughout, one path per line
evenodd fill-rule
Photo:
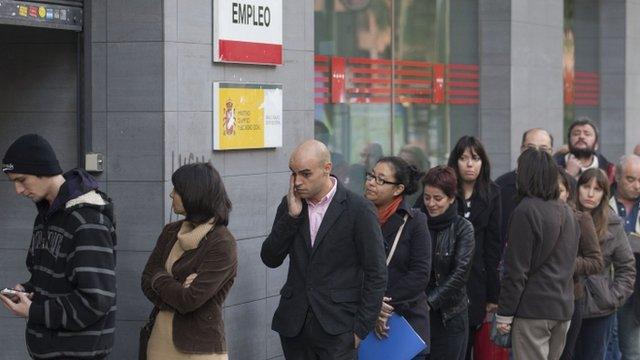
M 182 198 L 187 221 L 198 225 L 215 217 L 216 224 L 229 224 L 231 200 L 211 163 L 183 165 L 171 175 L 171 182 Z

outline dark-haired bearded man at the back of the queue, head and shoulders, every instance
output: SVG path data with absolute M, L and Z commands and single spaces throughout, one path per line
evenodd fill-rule
M 580 117 L 569 126 L 567 140 L 569 152 L 556 154 L 556 163 L 576 179 L 587 169 L 600 168 L 613 183 L 615 166 L 598 152 L 598 127 L 588 117 Z

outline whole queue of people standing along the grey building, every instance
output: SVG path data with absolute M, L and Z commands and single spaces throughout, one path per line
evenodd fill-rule
M 640 156 L 614 165 L 598 135 L 579 119 L 553 155 L 551 135 L 528 130 L 517 168 L 495 182 L 473 136 L 432 168 L 413 148 L 383 156 L 372 146 L 346 183 L 325 144 L 299 145 L 260 252 L 271 268 L 288 259 L 272 321 L 285 358 L 356 359 L 367 336 L 393 332 L 396 313 L 427 345 L 414 359 L 483 360 L 488 322 L 510 338 L 514 359 L 605 360 L 611 346 L 640 359 Z M 28 319 L 30 355 L 106 358 L 116 311 L 111 200 L 89 174 L 63 174 L 38 135 L 16 140 L 2 166 L 38 209 L 31 277 L 0 296 Z M 227 359 L 232 204 L 211 163 L 184 165 L 171 180 L 182 220 L 159 229 L 141 276 L 153 310 L 139 358 Z

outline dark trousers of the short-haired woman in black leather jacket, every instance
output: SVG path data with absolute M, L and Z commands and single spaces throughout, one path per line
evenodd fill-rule
M 440 311 L 430 312 L 431 352 L 429 360 L 463 360 L 467 352 L 469 337 L 469 315 L 467 311 L 442 322 Z

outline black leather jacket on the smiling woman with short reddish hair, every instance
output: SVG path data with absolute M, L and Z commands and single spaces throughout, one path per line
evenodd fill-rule
M 424 207 L 422 209 L 426 212 Z M 435 252 L 427 301 L 431 310 L 442 312 L 442 319 L 446 322 L 467 311 L 469 304 L 466 285 L 475 246 L 473 225 L 457 215 L 451 225 L 435 233 L 432 241 L 435 242 Z

